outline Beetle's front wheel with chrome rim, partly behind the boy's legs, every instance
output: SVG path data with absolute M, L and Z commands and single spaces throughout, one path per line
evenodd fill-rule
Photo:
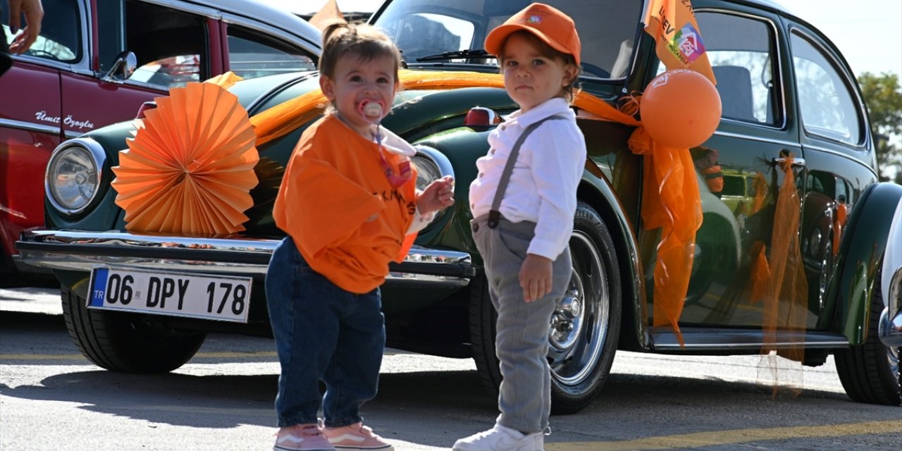
M 576 207 L 570 253 L 570 286 L 549 318 L 551 413 L 556 415 L 583 410 L 602 391 L 621 327 L 620 270 L 611 234 L 601 216 L 584 202 Z M 486 283 L 483 276 L 470 285 L 470 335 L 476 369 L 486 389 L 497 395 L 502 382 L 494 345 L 497 313 Z

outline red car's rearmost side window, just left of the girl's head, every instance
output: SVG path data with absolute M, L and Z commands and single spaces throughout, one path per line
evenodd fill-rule
M 286 43 L 235 25 L 228 34 L 229 69 L 241 78 L 317 69 L 310 55 Z

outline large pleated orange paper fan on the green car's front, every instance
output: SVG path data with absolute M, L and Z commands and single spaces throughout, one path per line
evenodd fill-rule
M 216 84 L 189 83 L 155 100 L 113 168 L 125 228 L 189 236 L 244 230 L 260 157 L 238 98 Z

